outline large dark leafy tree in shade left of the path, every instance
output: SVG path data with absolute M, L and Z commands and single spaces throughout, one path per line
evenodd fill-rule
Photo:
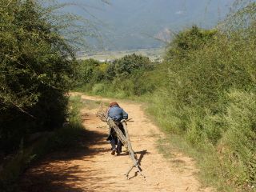
M 2 0 L 0 25 L 0 151 L 10 153 L 29 134 L 62 125 L 75 62 L 36 1 Z

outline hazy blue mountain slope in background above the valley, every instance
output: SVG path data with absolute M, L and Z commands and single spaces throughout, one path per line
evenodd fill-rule
M 110 5 L 100 0 L 76 2 L 100 8 L 89 11 L 101 21 L 98 29 L 106 50 L 130 50 L 164 46 L 156 38 L 166 41 L 170 31 L 186 26 L 214 26 L 234 0 L 109 0 Z M 78 7 L 69 10 L 95 20 Z

